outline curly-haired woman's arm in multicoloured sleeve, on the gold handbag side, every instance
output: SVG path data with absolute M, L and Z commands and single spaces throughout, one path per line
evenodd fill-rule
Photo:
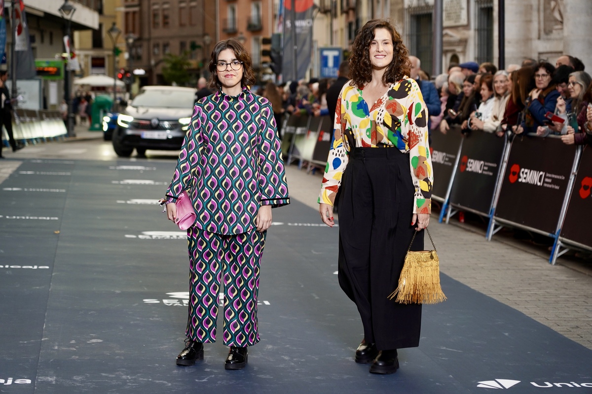
M 405 116 L 411 116 L 411 118 L 407 119 L 408 122 L 402 123 L 407 125 L 403 130 L 403 138 L 409 151 L 411 180 L 415 188 L 411 224 L 417 222 L 417 229 L 421 230 L 429 223 L 434 175 L 427 133 L 427 108 L 422 96 L 417 92 L 419 92 L 419 86 L 413 80 L 406 100 L 408 110 L 405 111 Z

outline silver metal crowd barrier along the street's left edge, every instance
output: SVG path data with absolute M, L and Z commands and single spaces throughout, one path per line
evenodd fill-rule
M 4 128 L 3 135 L 3 139 L 7 140 Z M 12 116 L 12 135 L 26 144 L 36 144 L 49 138 L 66 136 L 67 129 L 58 110 L 17 108 Z

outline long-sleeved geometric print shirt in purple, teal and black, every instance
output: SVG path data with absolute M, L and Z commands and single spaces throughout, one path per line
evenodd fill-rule
M 166 201 L 188 192 L 195 226 L 223 235 L 255 229 L 260 206 L 289 204 L 274 112 L 244 88 L 195 103 Z

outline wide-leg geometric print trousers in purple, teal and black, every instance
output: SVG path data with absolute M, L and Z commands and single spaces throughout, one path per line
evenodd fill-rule
M 202 343 L 215 342 L 218 292 L 223 278 L 224 345 L 245 347 L 259 342 L 259 262 L 266 233 L 253 229 L 222 235 L 189 227 L 191 279 L 186 337 Z

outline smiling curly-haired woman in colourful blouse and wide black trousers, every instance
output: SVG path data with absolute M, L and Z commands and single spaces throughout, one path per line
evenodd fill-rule
M 321 219 L 333 227 L 339 194 L 339 284 L 362 318 L 355 360 L 372 363 L 372 373 L 395 372 L 397 349 L 419 346 L 422 305 L 388 299 L 414 233 L 430 220 L 429 114 L 410 68 L 389 22 L 364 25 L 349 59 L 351 80 L 337 101 L 318 198 Z M 423 250 L 423 232 L 411 249 Z

